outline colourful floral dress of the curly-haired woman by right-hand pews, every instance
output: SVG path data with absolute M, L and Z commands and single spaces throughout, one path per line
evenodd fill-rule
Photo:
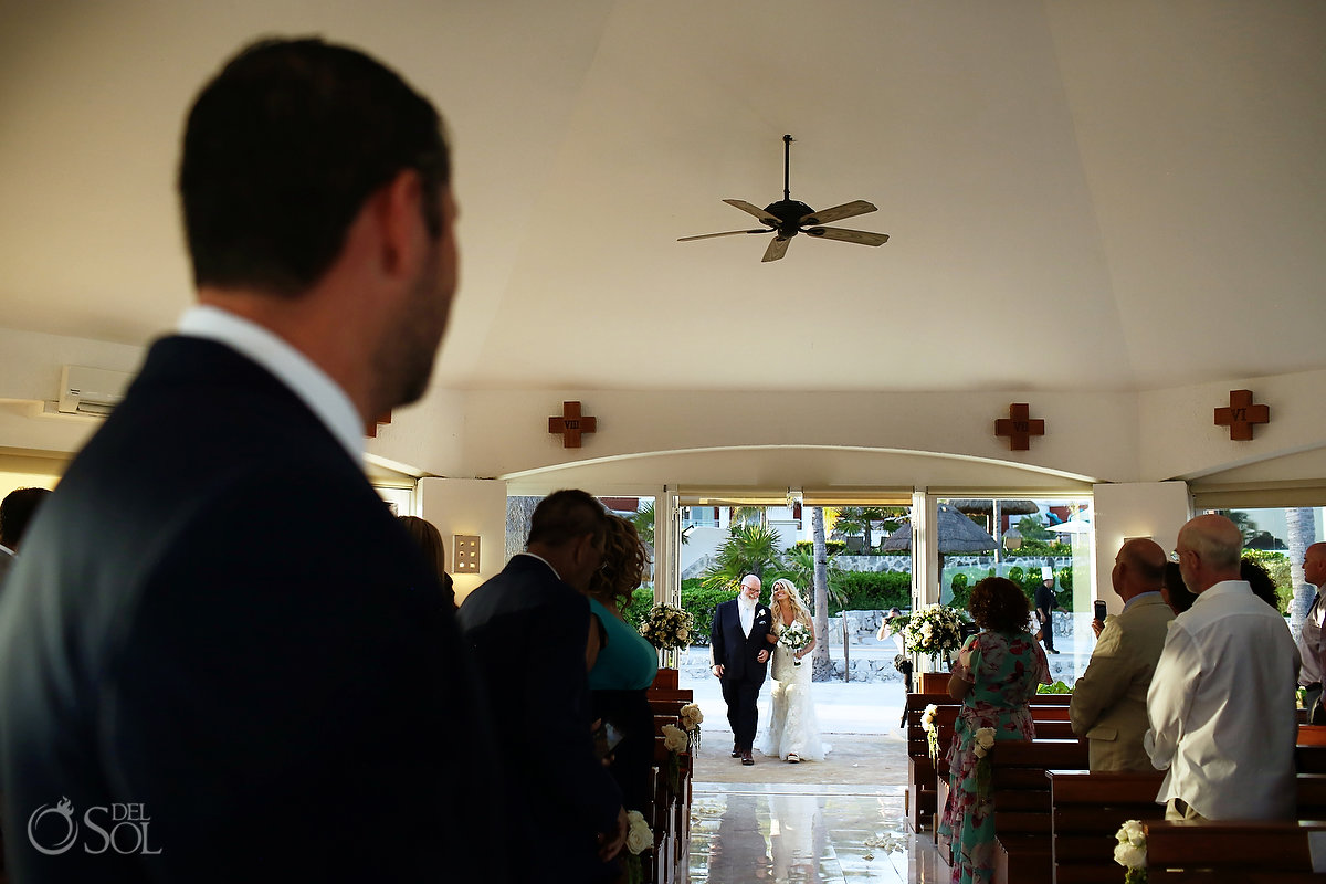
M 1034 740 L 1029 704 L 1037 685 L 1050 683 L 1050 665 L 1030 632 L 987 630 L 971 636 L 963 651 L 969 651 L 973 684 L 953 722 L 948 801 L 937 835 L 951 857 L 953 884 L 988 884 L 994 877 L 994 802 L 977 789 L 976 732 L 993 728 L 996 742 Z

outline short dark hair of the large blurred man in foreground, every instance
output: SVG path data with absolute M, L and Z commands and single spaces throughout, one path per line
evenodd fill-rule
M 442 232 L 451 166 L 432 105 L 369 56 L 256 42 L 203 89 L 179 192 L 194 281 L 296 297 L 329 269 L 365 200 L 410 168 Z

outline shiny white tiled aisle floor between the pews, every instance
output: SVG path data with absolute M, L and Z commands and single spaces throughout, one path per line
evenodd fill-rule
M 928 836 L 903 822 L 903 787 L 695 783 L 691 881 L 940 883 Z

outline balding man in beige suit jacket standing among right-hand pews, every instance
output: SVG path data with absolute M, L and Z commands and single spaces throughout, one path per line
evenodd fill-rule
M 1093 773 L 1155 770 L 1142 737 L 1147 688 L 1174 619 L 1160 598 L 1164 565 L 1164 550 L 1146 538 L 1126 542 L 1114 559 L 1111 583 L 1123 612 L 1106 620 L 1069 706 L 1073 732 L 1089 741 Z

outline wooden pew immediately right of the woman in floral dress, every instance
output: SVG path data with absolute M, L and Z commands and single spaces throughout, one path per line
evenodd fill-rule
M 1004 741 L 991 754 L 996 884 L 1050 884 L 1050 781 L 1046 770 L 1086 770 L 1086 740 Z

